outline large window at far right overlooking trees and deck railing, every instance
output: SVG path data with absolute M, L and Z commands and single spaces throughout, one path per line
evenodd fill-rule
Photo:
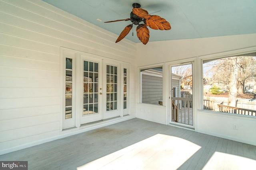
M 204 109 L 256 116 L 255 56 L 203 61 Z

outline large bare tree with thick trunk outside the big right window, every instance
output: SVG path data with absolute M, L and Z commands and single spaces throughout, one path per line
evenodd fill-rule
M 228 105 L 236 106 L 236 97 L 244 93 L 245 82 L 256 78 L 256 57 L 226 57 L 211 62 L 212 80 L 228 86 Z

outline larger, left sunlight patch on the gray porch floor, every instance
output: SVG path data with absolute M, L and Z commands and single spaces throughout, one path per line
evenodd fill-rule
M 177 169 L 200 148 L 185 139 L 157 134 L 84 164 L 77 170 Z

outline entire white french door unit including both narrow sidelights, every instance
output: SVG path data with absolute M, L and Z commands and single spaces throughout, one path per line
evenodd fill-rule
M 123 101 L 127 84 L 120 80 L 126 80 L 127 69 L 122 70 L 125 71 L 121 71 L 118 62 L 63 50 L 62 129 L 123 115 L 127 110 L 127 101 Z M 122 102 L 120 96 L 125 96 Z

